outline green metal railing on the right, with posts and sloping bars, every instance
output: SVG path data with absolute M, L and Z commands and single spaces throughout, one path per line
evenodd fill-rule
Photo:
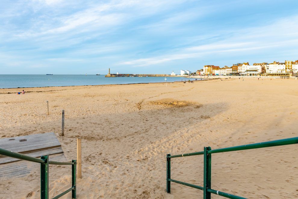
M 211 189 L 211 154 L 212 153 L 222 153 L 228 151 L 239 151 L 239 150 L 247 150 L 247 149 L 257 149 L 257 148 L 264 148 L 264 147 L 275 147 L 275 146 L 282 146 L 288 144 L 298 144 L 298 137 L 287 138 L 282 140 L 274 140 L 268 142 L 260 142 L 255 144 L 247 144 L 241 145 L 236 147 L 228 147 L 222 149 L 213 149 L 211 147 L 204 147 L 204 151 L 194 152 L 194 153 L 183 153 L 180 155 L 171 156 L 171 154 L 166 155 L 166 192 L 171 193 L 171 182 L 175 182 L 181 185 L 189 186 L 192 188 L 203 190 L 203 198 L 210 199 L 211 194 L 217 194 L 223 197 L 228 198 L 235 198 L 235 199 L 243 199 L 245 197 L 240 197 L 232 194 L 228 194 L 222 191 L 217 191 Z M 204 155 L 204 185 L 203 187 L 198 185 L 192 185 L 186 182 L 181 182 L 177 180 L 171 179 L 171 158 L 175 157 L 185 157 L 185 156 L 196 156 L 196 155 Z

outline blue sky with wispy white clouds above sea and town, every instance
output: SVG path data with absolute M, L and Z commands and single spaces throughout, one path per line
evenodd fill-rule
M 170 74 L 298 59 L 295 0 L 0 0 L 0 74 Z

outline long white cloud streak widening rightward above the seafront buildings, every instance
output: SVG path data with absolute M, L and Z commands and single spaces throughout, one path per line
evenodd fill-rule
M 291 46 L 298 45 L 298 39 L 296 39 L 298 38 L 297 21 L 298 16 L 292 16 L 262 27 L 238 29 L 231 33 L 234 36 L 214 43 L 189 46 L 179 49 L 179 52 L 165 52 L 161 56 L 133 59 L 118 64 L 142 67 L 179 59 L 203 58 L 206 55 L 216 55 L 218 53 L 225 53 L 227 55 L 230 53 L 249 54 L 260 50 L 290 48 Z M 289 27 L 291 28 L 288 31 Z

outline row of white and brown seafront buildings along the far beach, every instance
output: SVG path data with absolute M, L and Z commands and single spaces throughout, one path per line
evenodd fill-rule
M 297 76 L 298 60 L 254 63 L 248 62 L 233 64 L 231 67 L 220 68 L 214 65 L 205 65 L 203 69 L 197 70 L 197 75 L 233 75 L 233 76 Z

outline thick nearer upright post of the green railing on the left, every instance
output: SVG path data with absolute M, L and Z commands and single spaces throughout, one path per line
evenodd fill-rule
M 49 198 L 49 156 L 41 156 L 45 163 L 40 164 L 40 198 Z

